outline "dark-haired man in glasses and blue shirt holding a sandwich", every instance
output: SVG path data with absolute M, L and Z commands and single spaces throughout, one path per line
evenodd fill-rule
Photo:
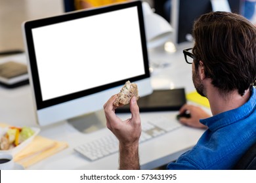
M 232 169 L 256 142 L 256 27 L 238 14 L 210 12 L 195 22 L 193 35 L 194 48 L 183 52 L 188 63 L 193 58 L 194 86 L 209 99 L 213 116 L 190 105 L 181 108 L 191 114 L 190 119 L 182 119 L 184 124 L 205 125 L 207 130 L 194 148 L 167 168 Z M 137 101 L 131 99 L 131 118 L 122 122 L 115 114 L 115 99 L 116 95 L 108 100 L 104 112 L 108 128 L 119 139 L 119 168 L 139 169 Z M 198 118 L 204 118 L 201 124 Z

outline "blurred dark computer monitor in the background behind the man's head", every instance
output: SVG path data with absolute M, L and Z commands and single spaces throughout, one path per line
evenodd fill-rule
M 194 20 L 212 11 L 211 0 L 171 0 L 171 25 L 173 42 L 177 47 L 192 41 Z M 240 13 L 241 0 L 228 0 L 232 12 Z

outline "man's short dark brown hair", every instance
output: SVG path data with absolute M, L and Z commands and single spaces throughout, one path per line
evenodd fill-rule
M 239 14 L 209 12 L 196 20 L 192 52 L 221 92 L 245 90 L 256 80 L 256 27 Z

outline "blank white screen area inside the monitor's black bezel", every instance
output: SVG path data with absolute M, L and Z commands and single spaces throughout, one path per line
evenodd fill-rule
M 43 101 L 144 75 L 137 7 L 32 29 Z

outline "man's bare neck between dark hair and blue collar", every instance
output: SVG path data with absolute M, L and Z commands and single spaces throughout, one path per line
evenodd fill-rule
M 244 105 L 251 95 L 250 90 L 245 90 L 245 94 L 241 96 L 237 90 L 222 94 L 214 86 L 210 86 L 207 90 L 207 98 L 211 106 L 213 115 L 220 114 L 234 108 Z

